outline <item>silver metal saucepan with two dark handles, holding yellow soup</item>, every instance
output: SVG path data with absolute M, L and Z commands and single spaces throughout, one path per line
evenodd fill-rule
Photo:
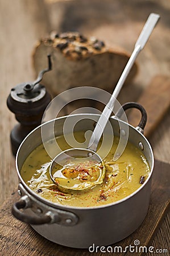
M 41 127 L 45 126 L 47 134 L 51 122 L 54 123 L 55 135 L 63 133 L 66 118 L 73 121 L 77 115 L 57 118 L 37 127 L 24 139 L 16 155 L 16 170 L 19 177 L 20 200 L 13 205 L 12 212 L 16 218 L 29 223 L 43 237 L 60 245 L 88 248 L 93 243 L 97 246 L 118 242 L 134 232 L 146 217 L 151 192 L 151 177 L 154 168 L 152 148 L 143 136 L 146 125 L 146 112 L 139 104 L 125 104 L 123 109 L 138 108 L 142 119 L 136 128 L 129 127 L 129 141 L 139 147 L 148 160 L 151 172 L 144 184 L 125 199 L 99 207 L 69 207 L 54 204 L 33 192 L 24 182 L 20 170 L 27 156 L 42 143 Z M 98 114 L 81 114 L 83 119 L 76 125 L 76 131 L 93 130 Z M 121 113 L 118 114 L 118 116 Z M 87 122 L 86 119 L 89 119 Z M 93 120 L 92 120 L 93 119 Z M 94 121 L 95 120 L 95 121 Z M 119 120 L 119 122 L 123 122 Z M 114 135 L 119 136 L 119 123 L 115 117 L 110 118 Z M 52 138 L 52 134 L 48 134 Z M 20 211 L 23 209 L 23 211 Z M 101 221 L 102 220 L 102 221 Z

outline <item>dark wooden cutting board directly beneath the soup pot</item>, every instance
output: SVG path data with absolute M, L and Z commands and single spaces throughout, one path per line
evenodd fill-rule
M 122 246 L 122 249 L 129 245 L 134 246 L 135 240 L 140 241 L 140 246 L 150 246 L 156 230 L 169 209 L 169 167 L 170 164 L 156 160 L 147 216 L 143 224 L 131 236 L 111 245 L 113 249 L 114 246 Z M 11 214 L 11 205 L 18 199 L 18 193 L 15 192 L 0 209 L 1 255 L 92 255 L 88 249 L 73 249 L 50 242 L 36 233 L 29 225 L 16 220 Z M 139 256 L 141 254 L 138 253 Z M 99 252 L 98 255 L 103 255 L 103 253 Z M 105 253 L 105 255 L 110 255 L 110 253 Z M 122 255 L 122 253 L 116 255 Z M 126 255 L 132 254 L 127 251 Z

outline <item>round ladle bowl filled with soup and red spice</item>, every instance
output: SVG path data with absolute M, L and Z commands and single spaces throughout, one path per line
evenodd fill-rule
M 62 192 L 84 191 L 103 183 L 105 165 L 92 150 L 70 148 L 53 159 L 49 175 Z

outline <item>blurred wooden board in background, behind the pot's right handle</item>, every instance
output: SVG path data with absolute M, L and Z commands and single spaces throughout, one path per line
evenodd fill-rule
M 170 106 L 170 77 L 157 75 L 138 99 L 147 112 L 147 124 L 144 129 L 144 135 L 148 138 L 163 119 Z M 128 121 L 132 125 L 138 125 L 140 113 L 133 109 L 128 115 Z

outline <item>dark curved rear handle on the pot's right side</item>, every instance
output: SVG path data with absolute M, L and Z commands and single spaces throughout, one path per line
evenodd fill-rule
M 143 133 L 144 127 L 146 126 L 147 122 L 147 113 L 146 110 L 143 108 L 142 105 L 136 103 L 136 102 L 128 102 L 122 105 L 122 108 L 118 110 L 117 114 L 115 114 L 118 118 L 121 118 L 123 111 L 126 111 L 127 109 L 139 109 L 140 113 L 142 114 L 142 118 L 140 119 L 139 125 L 136 127 L 141 133 Z

